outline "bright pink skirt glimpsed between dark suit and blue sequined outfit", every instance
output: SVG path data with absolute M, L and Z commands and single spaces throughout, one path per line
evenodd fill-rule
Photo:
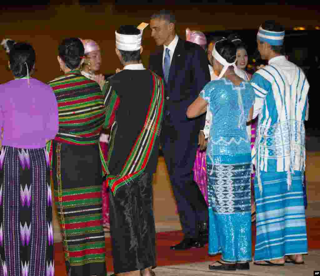
M 205 202 L 208 204 L 208 189 L 207 189 L 207 164 L 206 164 L 205 151 L 201 151 L 199 148 L 196 153 L 196 160 L 193 165 L 193 180 L 198 184 L 201 193 L 204 196 Z

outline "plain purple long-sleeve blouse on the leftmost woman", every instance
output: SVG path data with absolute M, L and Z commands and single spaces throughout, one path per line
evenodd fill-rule
M 58 104 L 52 88 L 30 78 L 0 85 L 0 128 L 2 145 L 37 149 L 56 136 L 59 127 Z

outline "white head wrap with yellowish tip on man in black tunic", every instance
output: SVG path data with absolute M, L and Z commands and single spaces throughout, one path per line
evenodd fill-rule
M 116 47 L 123 51 L 137 51 L 141 48 L 142 32 L 146 28 L 148 23 L 141 23 L 137 29 L 140 30 L 140 34 L 137 35 L 125 35 L 116 32 Z

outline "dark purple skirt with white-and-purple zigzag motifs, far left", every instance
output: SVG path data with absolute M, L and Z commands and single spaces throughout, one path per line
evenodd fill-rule
M 3 146 L 0 275 L 53 276 L 52 196 L 45 148 Z

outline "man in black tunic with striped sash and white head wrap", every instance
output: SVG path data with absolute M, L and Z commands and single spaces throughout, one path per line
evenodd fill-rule
M 164 88 L 140 63 L 142 32 L 116 31 L 116 54 L 124 65 L 106 82 L 107 125 L 112 125 L 107 184 L 116 275 L 153 275 L 156 266 L 152 177 L 156 171 Z M 116 99 L 119 106 L 114 110 Z M 113 120 L 114 118 L 114 120 Z

